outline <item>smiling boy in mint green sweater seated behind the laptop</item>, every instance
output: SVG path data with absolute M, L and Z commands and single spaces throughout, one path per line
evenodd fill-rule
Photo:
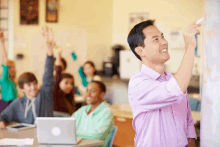
M 76 119 L 76 134 L 79 138 L 104 140 L 107 146 L 114 126 L 113 113 L 103 101 L 106 87 L 100 81 L 92 81 L 87 87 L 88 105 L 81 107 L 72 117 Z

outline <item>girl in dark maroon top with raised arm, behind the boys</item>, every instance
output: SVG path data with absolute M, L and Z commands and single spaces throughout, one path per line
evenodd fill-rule
M 53 108 L 55 111 L 73 114 L 73 112 L 76 110 L 76 103 L 74 99 L 74 78 L 69 73 L 62 74 L 62 58 L 60 48 L 57 47 L 54 50 L 54 55 L 56 60 L 53 87 Z

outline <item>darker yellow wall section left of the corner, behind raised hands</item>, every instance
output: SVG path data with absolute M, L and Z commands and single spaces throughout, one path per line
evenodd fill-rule
M 102 60 L 107 56 L 111 55 L 111 38 L 112 38 L 112 0 L 60 0 L 60 12 L 58 17 L 58 23 L 46 23 L 46 0 L 39 0 L 39 24 L 38 25 L 20 25 L 20 0 L 14 1 L 14 37 L 15 37 L 15 49 L 14 53 L 20 52 L 21 50 L 26 52 L 26 65 L 18 66 L 18 74 L 22 73 L 23 70 L 33 71 L 32 56 L 35 51 L 33 51 L 33 44 L 38 45 L 41 33 L 41 27 L 48 25 L 52 27 L 56 34 L 62 34 L 62 32 L 72 31 L 81 34 L 82 40 L 80 44 L 85 44 L 84 49 L 75 48 L 78 55 L 81 57 L 80 61 L 83 63 L 86 60 L 93 60 L 96 64 L 97 69 L 101 69 Z M 33 36 L 36 37 L 33 37 Z M 85 37 L 86 36 L 86 37 Z M 17 38 L 26 39 L 26 45 L 16 45 Z M 34 40 L 34 39 L 35 40 Z M 37 39 L 39 38 L 39 39 Z M 55 36 L 60 45 L 62 45 L 63 50 L 67 50 L 65 45 L 63 45 L 62 37 Z M 79 44 L 79 42 L 72 42 L 74 44 Z M 45 45 L 42 44 L 42 48 Z M 36 49 L 35 49 L 36 50 Z M 40 50 L 39 50 L 40 51 Z M 67 54 L 67 51 L 64 51 Z M 42 51 L 41 53 L 44 53 Z M 40 52 L 39 52 L 40 54 Z M 45 56 L 42 54 L 42 58 Z M 28 62 L 30 61 L 30 62 Z M 27 63 L 28 62 L 28 63 Z M 71 62 L 71 61 L 70 61 Z M 39 69 L 38 69 L 39 70 Z M 68 69 L 71 71 L 72 69 Z M 39 77 L 42 77 L 42 72 L 39 73 Z M 78 79 L 78 78 L 76 78 Z M 78 82 L 77 82 L 78 83 Z

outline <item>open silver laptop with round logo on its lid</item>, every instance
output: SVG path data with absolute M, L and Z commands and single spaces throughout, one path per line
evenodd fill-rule
M 76 137 L 75 118 L 37 117 L 37 138 L 39 144 L 78 144 L 82 138 Z

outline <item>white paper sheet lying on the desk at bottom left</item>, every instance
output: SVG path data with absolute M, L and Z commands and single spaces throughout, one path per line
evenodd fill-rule
M 4 138 L 0 140 L 0 146 L 2 145 L 33 145 L 34 139 L 25 138 L 25 139 L 15 139 L 15 138 Z

